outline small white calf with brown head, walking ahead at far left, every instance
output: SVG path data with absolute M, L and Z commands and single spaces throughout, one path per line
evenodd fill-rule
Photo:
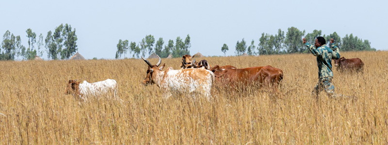
M 86 96 L 100 96 L 107 94 L 108 92 L 114 92 L 114 98 L 116 98 L 117 83 L 113 79 L 107 79 L 96 83 L 88 83 L 83 81 L 82 84 L 77 80 L 69 80 L 65 90 L 65 94 L 73 94 L 80 96 L 84 101 L 87 100 Z

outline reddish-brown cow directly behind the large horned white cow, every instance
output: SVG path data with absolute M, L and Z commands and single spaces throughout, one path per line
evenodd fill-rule
M 283 79 L 283 72 L 278 68 L 270 65 L 264 67 L 249 67 L 244 69 L 236 69 L 233 66 L 214 66 L 210 70 L 214 73 L 217 82 L 223 85 L 250 85 L 259 83 L 260 87 L 270 87 L 276 89 L 280 81 Z

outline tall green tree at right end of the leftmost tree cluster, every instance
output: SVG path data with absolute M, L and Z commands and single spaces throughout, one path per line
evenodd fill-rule
M 62 30 L 62 39 L 65 48 L 61 52 L 61 59 L 69 59 L 78 50 L 76 29 L 71 30 L 71 25 L 65 24 Z

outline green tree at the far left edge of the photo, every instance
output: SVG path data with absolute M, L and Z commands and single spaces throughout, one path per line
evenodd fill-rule
M 3 48 L 2 60 L 14 60 L 16 54 L 16 37 L 7 30 L 3 35 L 3 42 L 1 47 Z

